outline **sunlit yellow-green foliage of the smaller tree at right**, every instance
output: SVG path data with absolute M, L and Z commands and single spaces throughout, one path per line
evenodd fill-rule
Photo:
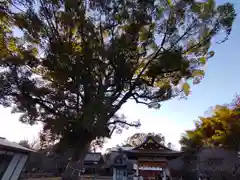
M 199 147 L 240 148 L 240 99 L 231 105 L 217 105 L 212 115 L 200 117 L 195 129 L 186 131 L 180 143 L 183 149 Z

